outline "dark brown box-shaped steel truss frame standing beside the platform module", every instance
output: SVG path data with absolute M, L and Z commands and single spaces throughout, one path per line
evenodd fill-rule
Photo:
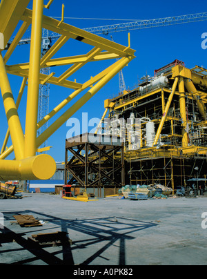
M 108 137 L 109 143 L 104 142 L 100 135 L 92 135 L 97 139 L 92 143 L 91 135 L 79 135 L 79 142 L 74 137 L 66 140 L 65 184 L 92 189 L 94 193 L 98 189 L 99 196 L 101 189 L 116 189 L 117 193 L 125 184 L 124 144 L 113 144 L 112 137 Z M 69 161 L 68 153 L 72 154 Z

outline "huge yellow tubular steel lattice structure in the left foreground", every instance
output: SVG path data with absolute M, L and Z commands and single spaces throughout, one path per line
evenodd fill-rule
M 30 10 L 28 9 L 30 0 L 1 0 L 0 32 L 4 37 L 4 47 L 8 44 L 19 23 L 21 23 L 21 27 L 17 30 L 10 48 L 6 52 L 2 51 L 0 53 L 0 88 L 3 106 L 8 119 L 8 133 L 6 133 L 0 155 L 0 180 L 44 180 L 52 177 L 56 169 L 55 160 L 46 154 L 36 155 L 38 147 L 135 58 L 135 50 L 130 48 L 130 44 L 127 47 L 121 46 L 113 41 L 92 35 L 89 32 L 64 23 L 64 6 L 61 21 L 43 15 L 43 10 L 50 8 L 52 2 L 53 0 L 47 1 L 47 3 L 44 3 L 43 0 L 33 0 L 32 10 Z M 30 25 L 32 27 L 30 61 L 26 64 L 8 65 L 10 56 Z M 56 32 L 61 37 L 41 58 L 42 28 Z M 84 55 L 54 59 L 54 55 L 69 39 L 75 39 L 83 44 L 92 46 L 92 49 Z M 117 61 L 117 58 L 119 58 L 119 61 Z M 115 59 L 115 62 L 102 70 L 101 73 L 90 77 L 83 84 L 69 80 L 71 75 L 88 64 L 88 62 L 106 59 Z M 51 66 L 69 66 L 69 68 L 59 77 L 55 76 L 55 73 L 50 75 L 40 73 L 41 68 Z M 14 102 L 8 74 L 23 78 L 16 103 Z M 27 82 L 26 128 L 25 132 L 23 132 L 23 125 L 20 122 L 17 109 Z M 70 88 L 74 91 L 37 123 L 39 84 L 45 84 L 46 82 Z M 48 122 L 83 90 L 87 90 L 87 92 L 37 137 L 37 129 Z M 12 140 L 12 146 L 6 148 L 9 135 Z M 6 160 L 13 151 L 16 160 Z

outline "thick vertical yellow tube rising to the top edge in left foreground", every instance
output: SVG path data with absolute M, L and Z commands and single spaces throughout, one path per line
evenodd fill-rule
M 28 76 L 28 99 L 26 108 L 25 158 L 32 157 L 36 155 L 37 152 L 37 113 L 39 101 L 43 0 L 33 0 L 32 11 L 30 69 Z

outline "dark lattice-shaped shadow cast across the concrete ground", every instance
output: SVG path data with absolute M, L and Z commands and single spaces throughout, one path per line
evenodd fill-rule
M 126 265 L 126 240 L 135 240 L 135 238 L 139 237 L 137 232 L 148 229 L 150 227 L 155 227 L 157 224 L 153 224 L 152 222 L 143 222 L 139 220 L 133 220 L 128 218 L 116 218 L 116 217 L 108 217 L 108 218 L 88 218 L 88 219 L 76 219 L 76 220 L 66 220 L 57 218 L 52 215 L 47 215 L 44 213 L 39 213 L 36 211 L 21 211 L 21 212 L 6 212 L 4 213 L 4 218 L 6 221 L 12 221 L 14 218 L 13 215 L 17 214 L 32 214 L 35 217 L 38 216 L 38 220 L 43 220 L 43 222 L 48 222 L 49 224 L 52 223 L 54 227 L 37 227 L 34 230 L 30 231 L 30 228 L 24 233 L 15 233 L 10 229 L 4 227 L 1 229 L 0 233 L 0 246 L 3 243 L 8 242 L 17 242 L 21 248 L 13 249 L 13 250 L 3 250 L 1 253 L 7 253 L 12 251 L 23 251 L 27 250 L 28 252 L 32 253 L 34 257 L 30 257 L 26 260 L 19 259 L 18 261 L 11 262 L 10 264 L 31 264 L 36 260 L 42 260 L 43 264 L 48 265 L 88 265 L 96 258 L 101 258 L 104 260 L 110 259 L 104 257 L 102 254 L 108 248 L 115 245 L 115 247 L 119 249 L 119 265 Z M 84 235 L 84 239 L 75 240 L 72 239 L 72 245 L 70 243 L 63 244 L 59 247 L 59 251 L 55 251 L 50 253 L 46 251 L 43 247 L 37 247 L 32 245 L 28 240 L 27 237 L 34 233 L 48 233 L 48 230 L 52 231 L 64 231 L 68 233 L 68 237 L 70 238 L 70 231 L 75 231 L 76 233 L 81 233 Z M 15 230 L 15 229 L 14 229 Z M 99 244 L 95 246 L 96 244 Z M 90 249 L 93 247 L 93 249 Z M 101 248 L 100 248 L 101 247 Z M 76 249 L 90 249 L 90 251 L 86 256 L 86 259 L 82 262 L 74 262 L 74 258 L 72 256 L 72 252 Z M 92 252 L 91 252 L 92 251 Z M 62 259 L 58 258 L 61 256 Z M 90 254 L 90 256 L 88 256 Z

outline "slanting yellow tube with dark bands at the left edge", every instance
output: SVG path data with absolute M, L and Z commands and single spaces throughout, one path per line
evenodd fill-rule
M 6 111 L 6 117 L 8 119 L 8 127 L 10 129 L 10 135 L 14 146 L 14 153 L 17 160 L 23 159 L 24 153 L 24 137 L 19 115 L 17 113 L 17 107 L 14 102 L 14 97 L 6 73 L 6 68 L 3 62 L 3 57 L 0 52 L 0 88 L 3 98 L 3 105 Z

